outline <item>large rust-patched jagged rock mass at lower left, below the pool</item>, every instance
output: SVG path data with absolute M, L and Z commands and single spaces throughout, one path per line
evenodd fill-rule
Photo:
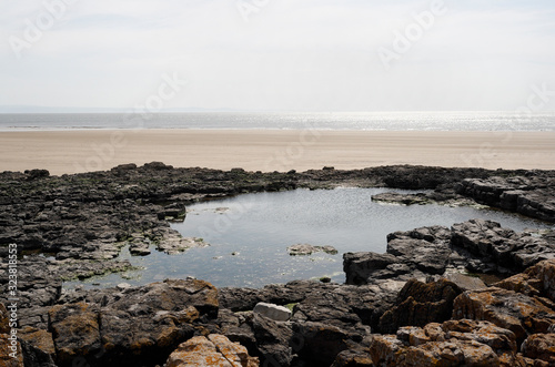
M 62 366 L 75 357 L 91 366 L 161 364 L 164 353 L 194 335 L 192 323 L 209 322 L 219 312 L 218 290 L 196 279 L 97 289 L 83 300 L 49 313 Z

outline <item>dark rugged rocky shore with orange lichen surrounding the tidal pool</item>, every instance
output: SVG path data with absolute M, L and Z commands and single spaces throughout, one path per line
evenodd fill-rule
M 392 233 L 385 254 L 346 253 L 346 284 L 216 289 L 167 279 L 62 289 L 64 279 L 128 271 L 118 259 L 127 245 L 135 255 L 205 245 L 169 225 L 190 203 L 335 186 L 426 190 L 373 200 L 488 205 L 555 223 L 554 171 L 262 173 L 153 162 L 62 176 L 0 173 L 4 306 L 9 245 L 19 254 L 19 359 L 9 356 L 11 310 L 0 306 L 0 366 L 555 366 L 555 233 L 480 218 Z

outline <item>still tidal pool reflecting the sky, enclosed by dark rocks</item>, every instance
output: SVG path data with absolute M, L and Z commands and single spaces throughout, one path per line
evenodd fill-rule
M 261 287 L 272 283 L 329 276 L 344 282 L 342 254 L 372 251 L 384 253 L 386 235 L 430 225 L 451 226 L 472 218 L 500 222 L 515 231 L 548 228 L 549 224 L 497 210 L 443 205 L 393 205 L 372 202 L 383 192 L 416 193 L 391 188 L 295 190 L 244 194 L 189 205 L 183 223 L 172 227 L 185 237 L 202 237 L 210 244 L 178 255 L 152 254 L 128 258 L 143 269 L 111 274 L 84 284 L 133 285 L 194 276 L 216 287 Z M 299 243 L 331 245 L 336 255 L 314 253 L 290 256 L 286 248 Z

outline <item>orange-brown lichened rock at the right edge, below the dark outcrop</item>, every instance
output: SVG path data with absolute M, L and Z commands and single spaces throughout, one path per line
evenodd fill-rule
M 555 310 L 536 298 L 492 287 L 462 293 L 453 304 L 453 318 L 492 322 L 513 332 L 522 343 L 527 335 L 547 333 L 555 323 Z

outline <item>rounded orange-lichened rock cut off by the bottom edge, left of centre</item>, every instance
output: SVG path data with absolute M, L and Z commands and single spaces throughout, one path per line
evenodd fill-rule
M 223 335 L 195 336 L 180 344 L 167 361 L 167 367 L 222 366 L 255 367 L 258 358 L 249 356 L 246 348 Z

